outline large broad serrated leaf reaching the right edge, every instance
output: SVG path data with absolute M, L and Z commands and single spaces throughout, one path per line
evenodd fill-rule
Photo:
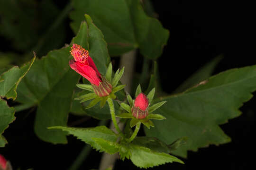
M 172 152 L 183 157 L 188 150 L 228 143 L 231 139 L 219 125 L 238 117 L 241 114 L 238 108 L 252 98 L 251 93 L 255 90 L 256 66 L 230 69 L 211 76 L 184 93 L 162 98 L 167 103 L 157 112 L 167 119 L 154 121 L 155 128 L 146 129 L 146 135 L 157 137 L 166 144 L 187 136 L 187 143 Z

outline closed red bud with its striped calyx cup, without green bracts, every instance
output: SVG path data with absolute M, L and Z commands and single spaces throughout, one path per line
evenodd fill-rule
M 134 102 L 134 106 L 132 107 L 132 115 L 136 119 L 144 119 L 148 115 L 147 111 L 148 107 L 148 99 L 144 93 L 140 93 Z

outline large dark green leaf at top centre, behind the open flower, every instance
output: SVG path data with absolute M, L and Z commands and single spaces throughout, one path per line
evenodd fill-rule
M 82 16 L 89 14 L 104 34 L 110 55 L 117 56 L 139 46 L 144 56 L 156 59 L 167 42 L 169 32 L 157 19 L 146 15 L 139 0 L 73 0 L 73 7 L 73 31 L 77 32 Z

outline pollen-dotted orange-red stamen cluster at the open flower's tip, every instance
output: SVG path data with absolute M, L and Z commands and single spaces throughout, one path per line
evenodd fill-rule
M 89 56 L 89 52 L 82 48 L 80 45 L 73 43 L 70 51 L 76 62 L 84 63 Z

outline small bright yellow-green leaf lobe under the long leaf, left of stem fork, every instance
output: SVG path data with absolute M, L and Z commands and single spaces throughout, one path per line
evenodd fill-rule
M 110 142 L 108 140 L 95 137 L 92 137 L 91 139 L 101 147 L 102 151 L 106 153 L 114 154 L 119 151 L 118 144 L 115 142 Z

